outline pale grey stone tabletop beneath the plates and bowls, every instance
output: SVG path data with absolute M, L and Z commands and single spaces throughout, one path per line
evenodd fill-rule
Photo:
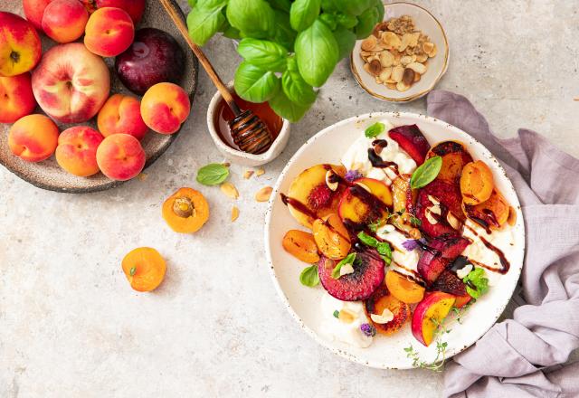
M 501 137 L 535 128 L 579 156 L 574 2 L 419 4 L 440 17 L 451 43 L 439 88 L 466 95 Z M 231 79 L 238 62 L 232 44 L 214 39 L 206 52 Z M 200 73 L 185 131 L 144 181 L 100 194 L 54 194 L 0 167 L 0 396 L 440 395 L 441 374 L 351 364 L 299 331 L 265 267 L 266 205 L 252 199 L 319 129 L 372 110 L 423 112 L 423 100 L 374 100 L 342 62 L 266 175 L 247 182 L 244 169 L 232 167 L 241 193 L 232 224 L 233 202 L 195 182 L 199 166 L 222 160 L 204 120 L 213 93 Z M 195 235 L 169 231 L 160 216 L 160 204 L 183 185 L 202 190 L 211 204 L 209 223 Z M 154 293 L 132 291 L 120 269 L 138 246 L 156 247 L 168 262 Z

